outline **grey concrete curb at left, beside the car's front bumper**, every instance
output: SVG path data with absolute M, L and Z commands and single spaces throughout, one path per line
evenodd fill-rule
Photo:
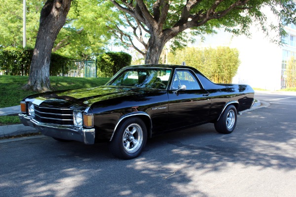
M 0 126 L 0 137 L 12 137 L 26 133 L 37 133 L 33 127 L 26 127 L 23 124 Z

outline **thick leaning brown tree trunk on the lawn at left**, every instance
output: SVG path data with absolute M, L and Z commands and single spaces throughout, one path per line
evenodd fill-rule
M 54 41 L 65 25 L 72 0 L 47 0 L 40 13 L 39 30 L 26 89 L 50 91 L 49 65 Z

